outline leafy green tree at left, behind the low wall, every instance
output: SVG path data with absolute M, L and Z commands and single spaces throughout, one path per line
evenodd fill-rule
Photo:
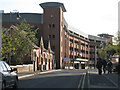
M 16 60 L 16 64 L 23 64 L 25 56 L 30 56 L 33 44 L 38 44 L 37 29 L 26 20 L 17 24 L 15 30 L 2 30 L 2 58 Z M 8 62 L 8 61 L 7 61 Z

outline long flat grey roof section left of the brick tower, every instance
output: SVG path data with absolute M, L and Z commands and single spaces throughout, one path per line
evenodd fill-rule
M 43 24 L 43 14 L 40 13 L 19 13 L 19 20 L 16 19 L 17 13 L 3 13 L 2 22 L 20 22 L 26 20 L 28 23 Z

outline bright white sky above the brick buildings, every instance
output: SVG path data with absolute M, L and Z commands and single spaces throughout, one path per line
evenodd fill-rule
M 118 31 L 118 2 L 120 0 L 0 0 L 0 10 L 8 13 L 43 13 L 39 6 L 43 2 L 61 2 L 67 12 L 67 23 L 80 31 L 97 35 L 116 35 Z

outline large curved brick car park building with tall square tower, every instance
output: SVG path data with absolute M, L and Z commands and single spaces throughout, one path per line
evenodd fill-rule
M 87 63 L 97 60 L 97 46 L 106 42 L 104 38 L 90 36 L 69 26 L 64 18 L 66 9 L 63 3 L 41 3 L 43 13 L 19 13 L 21 18 L 16 19 L 17 13 L 3 13 L 3 27 L 20 23 L 26 19 L 27 23 L 39 28 L 43 37 L 44 47 L 50 41 L 51 49 L 55 55 L 56 68 L 84 67 Z M 99 44 L 98 44 L 99 43 Z M 93 49 L 94 48 L 94 49 Z M 92 50 L 93 49 L 93 50 Z

